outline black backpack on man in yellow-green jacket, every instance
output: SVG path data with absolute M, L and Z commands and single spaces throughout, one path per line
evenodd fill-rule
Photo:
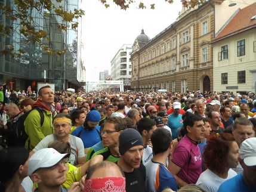
M 39 109 L 39 107 L 33 107 L 33 109 L 29 110 L 28 112 L 22 114 L 19 118 L 18 118 L 18 128 L 17 128 L 17 132 L 20 132 L 20 134 L 17 135 L 18 140 L 21 140 L 21 143 L 25 144 L 26 140 L 28 138 L 28 135 L 25 132 L 25 128 L 24 128 L 24 122 L 26 120 L 26 117 L 29 115 L 30 112 L 32 112 L 32 110 L 37 110 L 39 115 L 40 115 L 40 124 L 41 127 L 44 124 L 44 113 L 41 109 Z M 23 145 L 24 146 L 24 145 Z M 30 150 L 30 141 L 29 141 L 29 145 L 28 145 L 28 150 Z M 31 149 L 32 150 L 32 149 Z

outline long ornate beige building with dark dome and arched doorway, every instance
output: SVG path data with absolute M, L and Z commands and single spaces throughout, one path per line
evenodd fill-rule
M 212 91 L 214 4 L 182 8 L 175 23 L 149 39 L 144 30 L 135 39 L 131 89 L 172 92 Z

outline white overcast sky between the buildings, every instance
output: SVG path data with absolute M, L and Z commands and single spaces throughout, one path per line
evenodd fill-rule
M 181 10 L 180 0 L 174 0 L 173 4 L 164 0 L 151 2 L 156 4 L 155 10 L 138 10 L 132 7 L 127 11 L 120 10 L 114 4 L 105 8 L 97 0 L 84 2 L 82 33 L 85 52 L 82 57 L 87 72 L 86 80 L 98 80 L 98 73 L 103 70 L 109 70 L 110 74 L 110 61 L 119 48 L 123 44 L 133 44 L 142 28 L 146 35 L 153 38 L 177 19 Z

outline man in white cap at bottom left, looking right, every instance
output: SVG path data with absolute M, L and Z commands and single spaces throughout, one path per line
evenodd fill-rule
M 60 154 L 54 148 L 42 148 L 29 159 L 29 176 L 38 183 L 35 191 L 61 191 L 66 181 L 66 166 L 64 158 L 69 154 Z

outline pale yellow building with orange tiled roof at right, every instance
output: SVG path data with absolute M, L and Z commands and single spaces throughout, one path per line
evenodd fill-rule
M 256 2 L 236 11 L 212 45 L 214 91 L 256 92 Z

